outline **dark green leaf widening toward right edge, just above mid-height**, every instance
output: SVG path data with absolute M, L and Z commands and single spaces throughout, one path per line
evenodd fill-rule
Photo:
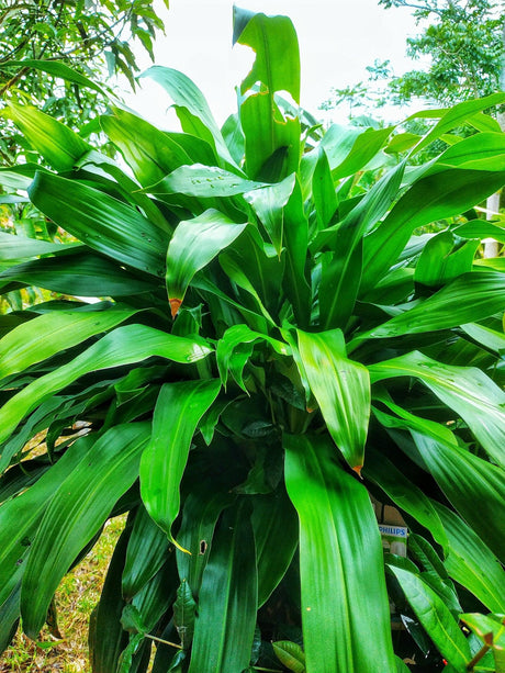
M 414 307 L 404 304 L 405 311 L 366 333 L 362 338 L 435 332 L 481 321 L 503 310 L 504 292 L 503 273 L 463 273 L 428 299 L 416 302 Z

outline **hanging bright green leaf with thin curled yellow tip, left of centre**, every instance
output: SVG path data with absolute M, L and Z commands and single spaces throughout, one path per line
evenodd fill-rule
M 198 423 L 220 389 L 218 380 L 166 383 L 156 403 L 153 436 L 142 456 L 142 500 L 149 516 L 179 549 L 171 527 L 179 514 L 180 481 Z

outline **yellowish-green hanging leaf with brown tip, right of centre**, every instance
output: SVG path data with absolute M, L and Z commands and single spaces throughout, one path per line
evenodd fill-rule
M 346 357 L 339 329 L 298 330 L 300 357 L 329 434 L 349 466 L 360 472 L 370 417 L 367 369 Z

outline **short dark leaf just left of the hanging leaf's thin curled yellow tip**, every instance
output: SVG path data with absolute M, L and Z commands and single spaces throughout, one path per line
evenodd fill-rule
M 165 532 L 141 506 L 124 561 L 122 592 L 126 601 L 131 601 L 167 561 L 171 553 L 169 547 Z

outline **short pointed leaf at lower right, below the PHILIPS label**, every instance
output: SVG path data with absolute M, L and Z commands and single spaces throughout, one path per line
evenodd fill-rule
M 444 601 L 414 573 L 394 565 L 389 569 L 439 652 L 458 673 L 465 673 L 471 659 L 470 648 Z

